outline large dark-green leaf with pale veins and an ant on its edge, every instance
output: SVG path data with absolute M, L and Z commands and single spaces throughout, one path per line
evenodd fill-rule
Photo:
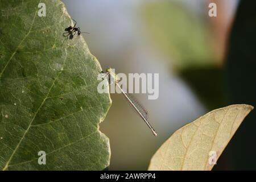
M 97 59 L 59 0 L 0 1 L 0 169 L 101 170 L 109 139 L 98 124 L 110 107 L 97 92 Z M 46 164 L 38 164 L 38 152 Z

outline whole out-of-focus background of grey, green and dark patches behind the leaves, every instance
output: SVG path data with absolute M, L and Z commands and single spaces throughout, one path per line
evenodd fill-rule
M 135 94 L 158 131 L 154 137 L 125 98 L 100 130 L 110 139 L 110 170 L 147 169 L 181 126 L 230 104 L 255 106 L 256 6 L 238 0 L 63 0 L 102 69 L 159 73 L 159 98 Z M 209 3 L 217 17 L 208 16 Z M 214 169 L 256 169 L 255 112 L 242 123 Z

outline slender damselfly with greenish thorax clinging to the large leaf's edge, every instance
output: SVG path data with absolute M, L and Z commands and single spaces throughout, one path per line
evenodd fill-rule
M 152 131 L 152 133 L 157 136 L 158 134 L 156 134 L 155 130 L 153 129 L 153 127 L 150 125 L 150 123 L 148 122 L 148 113 L 147 110 L 144 109 L 144 107 L 139 104 L 139 102 L 137 100 L 134 99 L 134 97 L 131 96 L 131 94 L 126 93 L 121 86 L 118 84 L 118 82 L 120 81 L 120 78 L 115 75 L 115 73 L 112 71 L 112 68 L 107 68 L 106 69 L 106 76 L 108 76 L 109 79 L 109 84 L 112 84 L 111 80 L 113 79 L 113 82 L 118 86 L 118 88 L 121 90 L 123 96 L 125 96 L 126 100 L 131 104 L 131 106 L 134 108 L 134 110 L 139 114 L 139 116 L 143 119 L 143 121 L 147 124 L 147 126 L 150 128 L 150 130 Z

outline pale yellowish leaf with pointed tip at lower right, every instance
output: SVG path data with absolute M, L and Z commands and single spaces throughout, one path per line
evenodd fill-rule
M 181 127 L 156 151 L 149 170 L 210 170 L 209 154 L 218 159 L 240 126 L 253 109 L 250 105 L 230 105 Z

